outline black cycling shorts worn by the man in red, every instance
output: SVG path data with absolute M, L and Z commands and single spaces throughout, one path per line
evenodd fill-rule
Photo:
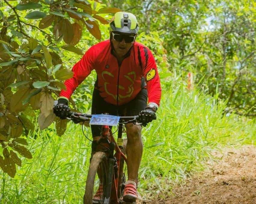
M 136 116 L 147 106 L 147 89 L 143 88 L 138 95 L 120 106 L 109 104 L 100 96 L 100 92 L 94 89 L 92 94 L 91 114 L 108 113 L 113 116 Z M 91 125 L 92 137 L 100 136 L 101 125 Z

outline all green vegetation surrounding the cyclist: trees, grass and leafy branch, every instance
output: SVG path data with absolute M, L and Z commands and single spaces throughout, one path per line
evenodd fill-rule
M 76 61 L 109 38 L 107 20 L 119 9 L 137 16 L 137 41 L 152 50 L 163 88 L 158 120 L 143 129 L 141 192 L 169 189 L 220 145 L 255 144 L 254 1 L 4 0 L 0 7 L 2 202 L 81 201 L 90 143 L 51 108 Z M 95 76 L 77 88 L 72 108 L 89 112 Z

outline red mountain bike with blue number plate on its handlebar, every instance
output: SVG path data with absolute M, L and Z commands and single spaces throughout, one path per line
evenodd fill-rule
M 138 122 L 138 117 L 119 117 L 108 114 L 88 115 L 69 112 L 67 119 L 74 122 L 90 121 L 91 125 L 102 125 L 99 141 L 92 142 L 84 204 L 128 204 L 128 202 L 122 201 L 125 182 L 128 179 L 127 158 L 125 156 L 127 139 L 122 139 L 122 133 L 125 132 L 123 124 L 135 124 Z M 109 128 L 113 124 L 118 125 L 117 142 L 113 137 L 111 128 Z

